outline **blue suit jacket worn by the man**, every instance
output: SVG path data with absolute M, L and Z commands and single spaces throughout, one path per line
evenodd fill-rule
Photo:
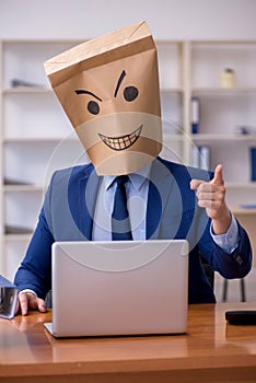
M 231 253 L 219 247 L 210 235 L 210 219 L 197 206 L 189 188 L 191 178 L 209 181 L 212 174 L 155 159 L 151 166 L 147 206 L 147 239 L 189 241 L 189 303 L 214 302 L 200 254 L 225 278 L 244 277 L 252 267 L 252 249 L 238 224 L 238 244 Z M 30 288 L 44 298 L 50 289 L 55 241 L 91 240 L 93 211 L 100 177 L 92 164 L 54 174 L 39 221 L 26 256 L 15 276 L 19 290 Z

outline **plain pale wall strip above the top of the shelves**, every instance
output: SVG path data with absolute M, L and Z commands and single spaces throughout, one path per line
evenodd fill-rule
M 0 38 L 91 38 L 146 20 L 159 39 L 256 39 L 256 0 L 0 0 Z

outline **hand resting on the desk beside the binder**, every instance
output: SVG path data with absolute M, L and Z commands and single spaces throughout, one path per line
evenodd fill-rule
M 31 292 L 20 292 L 18 295 L 15 315 L 19 313 L 19 311 L 21 311 L 22 315 L 27 315 L 30 309 L 38 310 L 40 313 L 45 313 L 45 301 L 40 298 L 36 298 Z

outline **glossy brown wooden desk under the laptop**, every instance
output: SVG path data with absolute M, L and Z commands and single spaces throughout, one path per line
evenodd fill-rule
M 256 326 L 231 326 L 225 310 L 256 303 L 190 305 L 176 336 L 55 339 L 51 313 L 0 321 L 0 382 L 256 382 Z

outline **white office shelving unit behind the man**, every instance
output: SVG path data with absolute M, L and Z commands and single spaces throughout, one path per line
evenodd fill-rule
M 0 42 L 0 274 L 10 279 L 36 224 L 50 175 L 56 169 L 88 161 L 43 67 L 46 59 L 78 43 Z M 207 144 L 210 167 L 223 164 L 228 202 L 255 243 L 256 183 L 251 182 L 249 149 L 256 148 L 256 42 L 163 40 L 156 45 L 163 155 L 190 164 L 193 148 Z M 220 86 L 224 68 L 234 70 L 234 88 Z M 33 86 L 12 86 L 16 79 Z M 191 96 L 200 100 L 196 135 L 191 134 Z M 238 135 L 241 126 L 252 131 Z

